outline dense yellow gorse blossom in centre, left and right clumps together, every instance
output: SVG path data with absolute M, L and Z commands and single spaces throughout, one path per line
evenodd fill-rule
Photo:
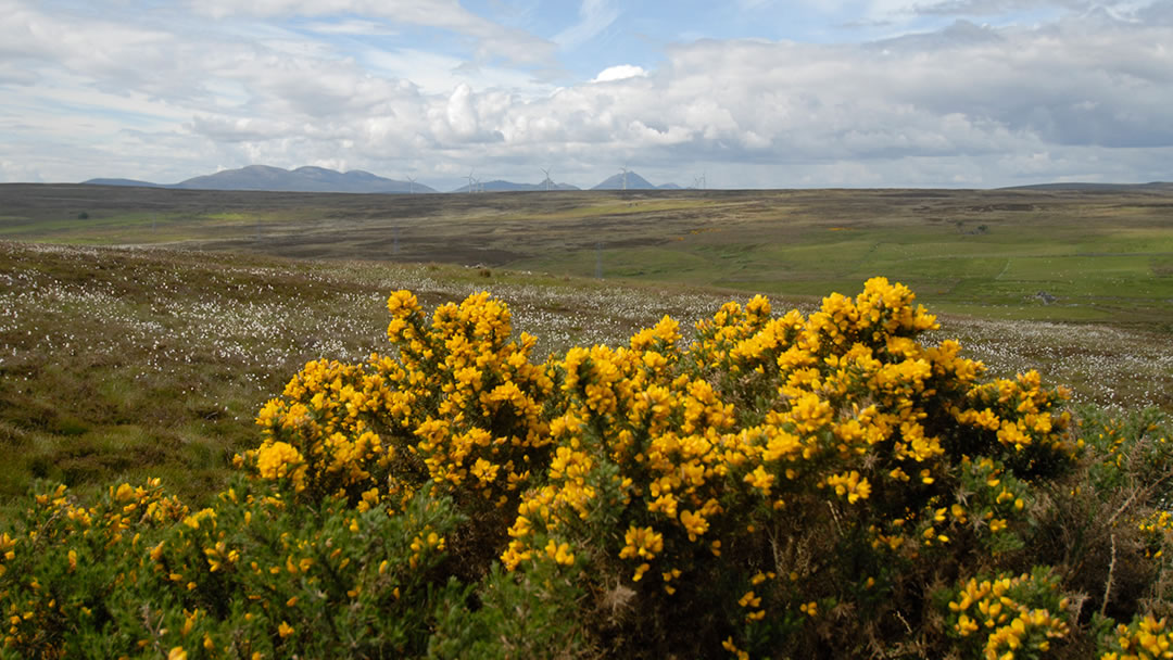
M 665 317 L 626 346 L 535 365 L 534 339 L 511 339 L 487 293 L 428 319 L 399 291 L 394 349 L 306 365 L 259 413 L 264 443 L 240 462 L 294 497 L 340 494 L 360 511 L 402 509 L 432 482 L 500 525 L 509 570 L 592 563 L 660 598 L 732 551 L 772 576 L 753 583 L 746 625 L 804 625 L 842 594 L 805 593 L 820 588 L 811 559 L 768 551 L 762 530 L 825 525 L 908 560 L 1009 538 L 1026 503 L 1018 477 L 1074 455 L 1062 392 L 1033 372 L 983 383 L 956 341 L 917 341 L 937 325 L 914 301 L 883 278 L 809 315 L 755 297 L 698 322 L 691 342 Z M 1050 625 L 1030 617 L 1005 621 L 1005 644 L 1015 626 Z

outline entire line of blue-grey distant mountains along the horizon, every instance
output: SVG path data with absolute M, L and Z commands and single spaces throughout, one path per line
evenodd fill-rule
M 647 179 L 629 171 L 628 190 L 678 190 L 674 183 L 652 185 Z M 142 188 L 170 188 L 181 190 L 265 190 L 271 192 L 439 192 L 422 183 L 412 183 L 384 178 L 362 170 L 338 172 L 325 168 L 298 168 L 284 170 L 269 165 L 249 165 L 238 170 L 224 170 L 213 175 L 189 178 L 179 183 L 158 184 L 148 181 L 128 178 L 91 178 L 82 182 L 87 185 L 131 185 Z M 510 181 L 490 181 L 474 184 L 476 191 L 508 192 L 520 190 L 547 190 L 547 182 L 514 183 Z M 550 190 L 582 190 L 568 183 L 549 183 Z M 623 190 L 623 175 L 609 177 L 591 190 Z M 452 192 L 468 192 L 468 185 L 462 185 Z

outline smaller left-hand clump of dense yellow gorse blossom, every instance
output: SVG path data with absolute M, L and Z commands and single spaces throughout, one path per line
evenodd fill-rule
M 348 496 L 361 508 L 401 505 L 425 481 L 502 508 L 549 461 L 542 411 L 552 392 L 510 340 L 510 314 L 487 293 L 435 309 L 411 292 L 391 295 L 392 355 L 361 365 L 313 361 L 257 416 L 260 448 L 240 457 L 298 491 Z

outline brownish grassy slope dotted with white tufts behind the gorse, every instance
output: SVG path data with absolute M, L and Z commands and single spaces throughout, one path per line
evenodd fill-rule
M 0 243 L 0 511 L 36 477 L 86 489 L 161 476 L 202 502 L 257 442 L 255 411 L 305 361 L 385 349 L 396 288 L 428 306 L 490 290 L 515 331 L 538 336 L 540 356 L 623 342 L 664 314 L 687 327 L 731 298 L 438 265 Z M 1038 367 L 1084 401 L 1173 409 L 1173 346 L 1151 331 L 943 325 L 938 338 L 960 336 L 996 373 Z

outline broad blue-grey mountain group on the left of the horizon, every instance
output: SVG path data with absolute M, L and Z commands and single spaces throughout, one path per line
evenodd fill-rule
M 283 170 L 269 165 L 249 165 L 239 170 L 224 170 L 213 175 L 189 178 L 179 183 L 162 185 L 145 181 L 126 178 L 93 178 L 83 184 L 93 185 L 141 185 L 148 188 L 174 188 L 181 190 L 266 190 L 272 192 L 436 192 L 422 183 L 395 181 L 351 170 L 338 172 L 325 168 L 298 168 Z

